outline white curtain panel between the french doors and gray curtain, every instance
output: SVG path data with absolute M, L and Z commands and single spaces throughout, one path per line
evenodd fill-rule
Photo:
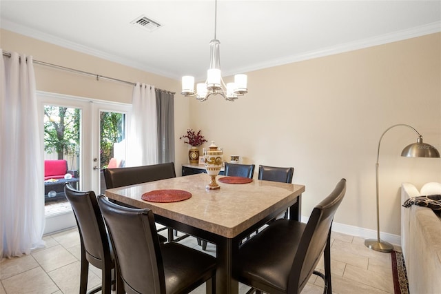
M 154 86 L 136 83 L 133 89 L 126 166 L 158 163 L 157 121 Z

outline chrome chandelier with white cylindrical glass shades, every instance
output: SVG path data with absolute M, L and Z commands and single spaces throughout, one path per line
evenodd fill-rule
M 216 14 L 217 0 L 214 2 L 214 39 L 209 42 L 210 62 L 209 70 L 207 70 L 207 80 L 205 83 L 196 85 L 194 91 L 194 77 L 186 75 L 182 77 L 182 92 L 185 97 L 196 97 L 196 100 L 206 101 L 211 95 L 221 95 L 227 101 L 234 101 L 238 96 L 242 96 L 248 92 L 247 75 L 235 75 L 234 83 L 225 85 L 220 75 L 220 57 L 219 44 L 216 39 Z

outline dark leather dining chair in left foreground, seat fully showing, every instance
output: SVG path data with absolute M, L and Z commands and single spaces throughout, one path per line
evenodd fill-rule
M 216 291 L 216 259 L 176 242 L 159 244 L 150 209 L 98 198 L 126 293 L 189 293 L 206 282 Z

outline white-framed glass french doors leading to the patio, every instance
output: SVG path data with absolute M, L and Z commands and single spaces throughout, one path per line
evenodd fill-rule
M 125 162 L 125 134 L 127 133 L 130 122 L 130 104 L 118 104 L 114 102 L 107 102 L 94 99 L 86 99 L 83 97 L 73 97 L 68 95 L 59 95 L 48 92 L 37 92 L 37 99 L 39 101 L 39 121 L 41 121 L 41 146 L 46 147 L 42 158 L 45 159 L 59 159 L 55 158 L 54 149 L 48 150 L 48 143 L 45 142 L 45 122 L 48 119 L 59 120 L 60 117 L 50 117 L 45 114 L 45 109 L 66 108 L 67 112 L 75 112 L 78 115 L 77 121 L 74 122 L 76 127 L 73 129 L 78 132 L 76 146 L 72 149 L 74 159 L 68 161 L 74 167 L 79 175 L 79 190 L 93 190 L 96 194 L 103 193 L 103 177 L 102 168 L 109 166 L 110 159 L 112 164 L 115 161 L 116 166 L 121 167 Z M 59 121 L 55 121 L 61 124 Z M 64 128 L 65 127 L 65 128 Z M 66 130 L 68 122 L 65 121 Z M 66 133 L 72 132 L 71 130 Z M 73 144 L 72 144 L 73 145 Z M 68 148 L 64 149 L 64 153 Z M 49 153 L 49 154 L 48 154 Z M 71 158 L 68 154 L 63 155 L 64 159 Z

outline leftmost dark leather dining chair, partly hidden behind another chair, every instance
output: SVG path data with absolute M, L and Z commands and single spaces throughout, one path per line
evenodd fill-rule
M 110 239 L 105 229 L 95 193 L 94 191 L 81 192 L 75 190 L 70 186 L 70 183 L 65 184 L 64 193 L 74 211 L 80 234 L 80 293 L 86 293 L 88 288 L 89 264 L 101 269 L 103 279 L 101 286 L 94 288 L 90 293 L 96 293 L 100 290 L 102 293 L 110 293 L 112 270 L 115 270 L 114 253 L 112 246 L 110 246 Z M 115 272 L 113 276 L 115 276 Z

